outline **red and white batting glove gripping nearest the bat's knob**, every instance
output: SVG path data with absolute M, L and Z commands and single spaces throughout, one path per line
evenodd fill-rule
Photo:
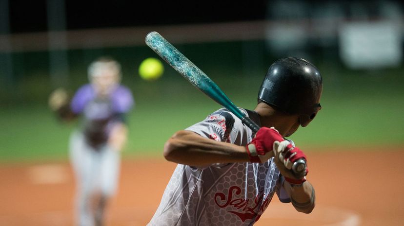
M 285 180 L 291 184 L 302 184 L 306 180 L 305 176 L 308 169 L 306 168 L 302 174 L 297 175 L 292 171 L 292 166 L 298 159 L 304 158 L 306 160 L 304 153 L 299 148 L 293 147 L 287 140 L 274 141 L 273 149 L 275 152 L 275 164 L 285 177 Z

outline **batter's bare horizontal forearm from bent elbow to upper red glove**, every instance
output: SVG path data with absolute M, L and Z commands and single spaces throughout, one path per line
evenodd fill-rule
M 249 161 L 245 147 L 206 139 L 191 131 L 179 131 L 168 139 L 164 157 L 191 166 Z

